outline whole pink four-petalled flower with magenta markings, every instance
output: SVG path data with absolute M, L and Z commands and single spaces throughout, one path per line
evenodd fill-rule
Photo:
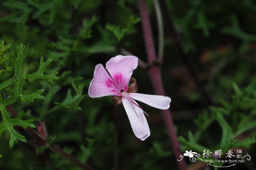
M 145 112 L 135 100 L 139 100 L 155 108 L 167 109 L 170 107 L 171 99 L 158 95 L 128 93 L 128 83 L 133 70 L 137 66 L 137 57 L 122 55 L 115 56 L 106 63 L 106 70 L 108 72 L 102 64 L 97 64 L 88 94 L 91 98 L 110 95 L 121 96 L 133 133 L 137 138 L 144 141 L 150 136 L 150 130 L 144 115 Z

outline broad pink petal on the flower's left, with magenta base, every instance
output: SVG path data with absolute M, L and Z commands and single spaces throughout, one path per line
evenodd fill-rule
M 116 86 L 116 83 L 109 76 L 102 64 L 97 64 L 97 66 L 95 66 L 94 78 L 91 80 L 88 94 L 91 98 L 110 95 L 121 96 L 121 90 Z

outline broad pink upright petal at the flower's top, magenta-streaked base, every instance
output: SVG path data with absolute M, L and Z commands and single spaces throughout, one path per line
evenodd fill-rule
M 138 58 L 135 56 L 118 55 L 106 63 L 106 69 L 121 90 L 127 91 L 129 80 L 133 70 L 138 66 Z

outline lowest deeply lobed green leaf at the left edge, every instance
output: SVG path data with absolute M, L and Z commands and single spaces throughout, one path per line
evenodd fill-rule
M 19 134 L 15 129 L 14 126 L 21 126 L 23 128 L 27 127 L 33 127 L 35 128 L 35 125 L 32 123 L 34 120 L 21 120 L 23 112 L 19 112 L 18 116 L 16 118 L 10 118 L 8 115 L 7 110 L 5 109 L 5 106 L 1 104 L 0 111 L 3 119 L 3 123 L 0 124 L 0 135 L 3 131 L 7 131 L 10 134 L 10 148 L 14 145 L 14 141 L 20 140 L 22 142 L 26 142 L 26 139 L 23 135 Z

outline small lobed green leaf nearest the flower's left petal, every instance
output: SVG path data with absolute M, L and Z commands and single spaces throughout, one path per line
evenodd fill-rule
M 63 107 L 63 108 L 73 108 L 75 110 L 82 110 L 82 108 L 80 106 L 78 106 L 78 104 L 84 98 L 84 95 L 83 95 L 84 84 L 80 84 L 78 87 L 76 87 L 75 84 L 72 83 L 72 86 L 76 91 L 76 95 L 74 97 L 72 97 L 71 89 L 69 88 L 68 92 L 67 92 L 67 96 L 63 100 L 63 102 L 61 102 L 61 103 L 54 102 L 54 104 L 56 104 L 60 107 Z

